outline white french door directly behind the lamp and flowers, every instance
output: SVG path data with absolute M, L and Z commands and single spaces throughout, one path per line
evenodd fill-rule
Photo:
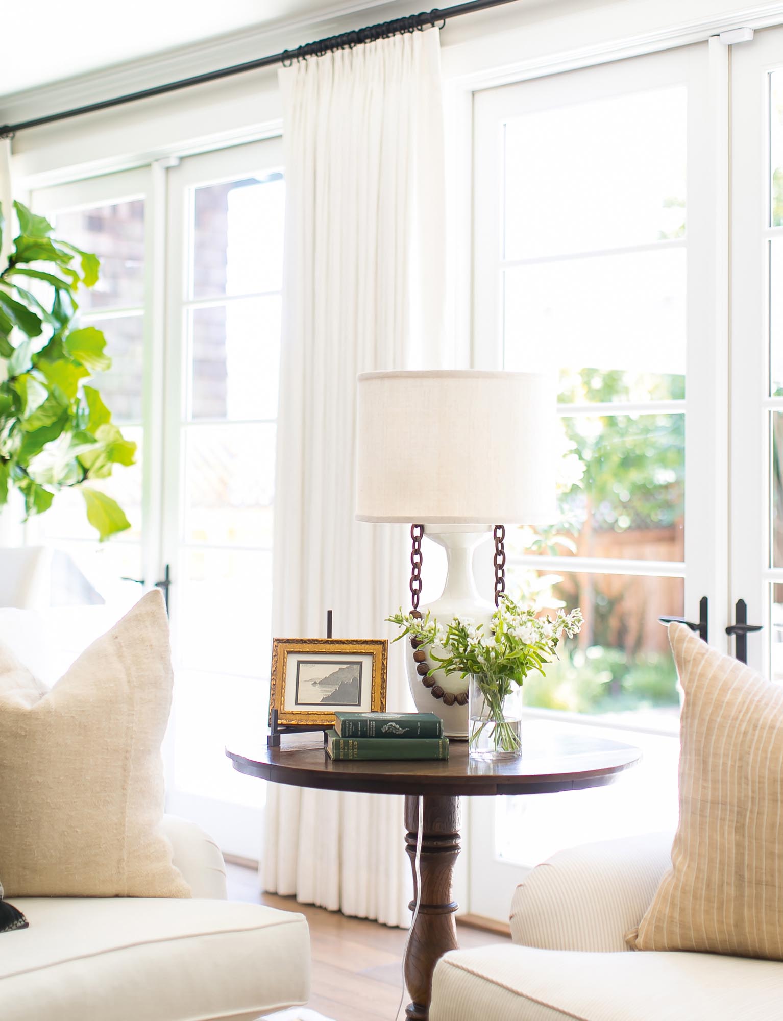
M 728 208 L 711 90 L 726 64 L 702 44 L 475 97 L 474 359 L 559 379 L 561 520 L 510 530 L 508 588 L 585 616 L 526 682 L 527 726 L 644 752 L 611 787 L 473 801 L 475 914 L 506 919 L 560 847 L 676 825 L 680 699 L 657 619 L 697 621 L 706 597 L 726 642 Z

